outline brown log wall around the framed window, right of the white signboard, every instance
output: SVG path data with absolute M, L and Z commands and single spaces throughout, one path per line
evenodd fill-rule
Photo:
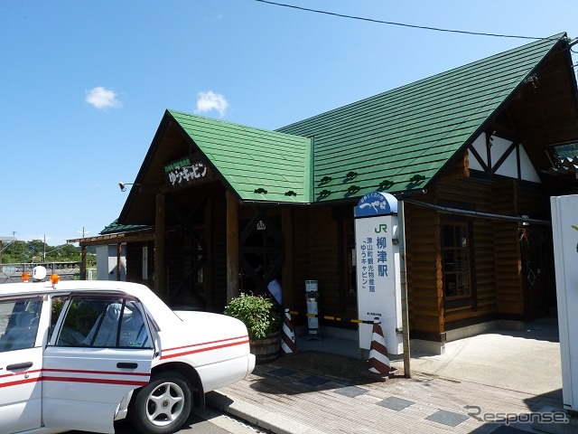
M 450 208 L 503 215 L 545 206 L 536 186 L 519 188 L 516 180 L 469 177 L 467 157 L 452 166 L 430 193 L 417 200 Z M 543 203 L 543 205 L 540 205 Z M 531 213 L 536 215 L 536 212 Z M 472 303 L 444 303 L 440 230 L 443 222 L 471 222 Z M 424 333 L 443 333 L 489 317 L 524 314 L 524 291 L 517 241 L 517 222 L 467 217 L 406 204 L 406 245 L 410 326 Z

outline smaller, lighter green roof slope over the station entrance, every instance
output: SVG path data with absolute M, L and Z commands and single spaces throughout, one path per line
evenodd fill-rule
M 309 138 L 169 113 L 242 200 L 312 201 Z

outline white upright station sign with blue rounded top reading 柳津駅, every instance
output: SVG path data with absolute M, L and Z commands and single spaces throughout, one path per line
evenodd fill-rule
M 381 321 L 387 352 L 402 354 L 401 286 L 397 200 L 368 193 L 355 207 L 355 250 L 359 319 Z M 369 349 L 371 324 L 359 324 L 359 347 Z

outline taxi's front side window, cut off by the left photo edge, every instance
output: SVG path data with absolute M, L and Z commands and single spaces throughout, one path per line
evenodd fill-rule
M 33 347 L 41 307 L 41 297 L 0 301 L 0 353 Z

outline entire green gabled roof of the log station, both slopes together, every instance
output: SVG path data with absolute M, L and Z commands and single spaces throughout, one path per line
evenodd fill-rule
M 554 52 L 570 56 L 565 33 L 276 131 L 167 110 L 118 222 L 154 224 L 154 196 L 143 186 L 162 184 L 163 165 L 187 149 L 241 201 L 323 203 L 428 188 Z

